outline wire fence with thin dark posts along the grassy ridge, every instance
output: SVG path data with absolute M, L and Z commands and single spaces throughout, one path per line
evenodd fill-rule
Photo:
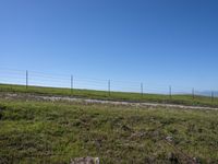
M 215 91 L 199 91 L 194 87 L 184 87 L 175 85 L 148 84 L 145 82 L 131 82 L 118 80 L 104 80 L 95 78 L 85 78 L 75 74 L 55 74 L 29 70 L 0 69 L 0 83 L 20 84 L 28 86 L 48 86 L 64 89 L 85 89 L 106 92 L 131 92 L 140 94 L 166 94 L 169 96 L 185 94 L 217 97 Z

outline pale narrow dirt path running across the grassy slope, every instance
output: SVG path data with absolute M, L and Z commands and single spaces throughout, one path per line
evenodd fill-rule
M 85 102 L 85 103 L 96 103 L 96 104 L 113 104 L 113 105 L 128 105 L 128 106 L 141 106 L 141 107 L 165 107 L 165 108 L 181 108 L 181 109 L 209 109 L 218 110 L 214 107 L 201 107 L 201 106 L 186 106 L 186 105 L 175 105 L 175 104 L 161 104 L 161 103 L 131 103 L 131 102 L 116 102 L 116 101 L 101 101 L 101 99 L 90 99 L 90 98 L 77 98 L 69 96 L 49 96 L 49 95 L 35 95 L 35 94 L 11 94 L 4 93 L 0 97 L 3 98 L 25 98 L 25 99 L 43 99 L 43 101 L 68 101 L 68 102 Z

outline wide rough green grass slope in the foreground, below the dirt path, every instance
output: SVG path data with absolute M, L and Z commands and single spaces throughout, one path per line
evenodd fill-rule
M 0 98 L 0 163 L 70 163 L 88 155 L 102 164 L 171 163 L 169 153 L 187 163 L 167 136 L 190 157 L 218 163 L 217 118 L 216 110 Z

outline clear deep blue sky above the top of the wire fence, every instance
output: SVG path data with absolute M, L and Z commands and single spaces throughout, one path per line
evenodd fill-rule
M 1 0 L 0 68 L 218 90 L 218 1 Z

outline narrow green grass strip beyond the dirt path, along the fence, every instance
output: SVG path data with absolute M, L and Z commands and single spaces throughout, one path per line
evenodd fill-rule
M 9 85 L 0 84 L 0 92 L 20 92 L 20 93 L 34 93 L 44 95 L 61 95 L 61 96 L 74 96 L 74 97 L 86 97 L 97 99 L 110 99 L 110 101 L 126 101 L 126 102 L 152 102 L 152 103 L 169 103 L 169 104 L 181 104 L 181 105 L 193 105 L 193 106 L 209 106 L 218 107 L 218 97 L 211 101 L 210 97 L 195 96 L 192 95 L 169 95 L 161 94 L 144 94 L 143 96 L 138 93 L 123 93 L 123 92 L 111 92 L 110 95 L 105 91 L 94 90 L 73 90 L 59 89 L 59 87 L 40 87 L 40 86 L 28 86 L 24 85 Z

